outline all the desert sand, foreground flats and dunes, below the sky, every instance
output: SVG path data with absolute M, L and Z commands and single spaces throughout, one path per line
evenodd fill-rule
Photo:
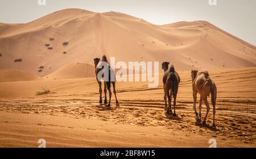
M 163 70 L 158 88 L 117 82 L 120 106 L 114 97 L 111 109 L 99 104 L 93 58 L 104 54 L 174 64 L 177 117 L 164 112 Z M 254 45 L 204 21 L 155 25 L 67 9 L 0 23 L 0 147 L 38 147 L 39 139 L 47 147 L 209 147 L 210 139 L 217 147 L 255 147 L 255 62 Z M 206 126 L 196 123 L 192 69 L 208 70 L 217 85 L 216 128 L 212 109 Z

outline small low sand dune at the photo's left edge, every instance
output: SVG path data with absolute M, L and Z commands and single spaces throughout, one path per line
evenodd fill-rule
M 0 70 L 0 82 L 5 81 L 31 81 L 40 78 L 20 70 Z

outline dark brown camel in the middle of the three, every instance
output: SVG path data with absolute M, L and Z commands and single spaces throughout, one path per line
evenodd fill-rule
M 174 65 L 168 68 L 169 62 L 164 62 L 162 68 L 165 71 L 163 75 L 163 88 L 164 88 L 164 102 L 167 114 L 172 114 L 171 100 L 172 96 L 174 97 L 174 114 L 176 116 L 176 97 L 179 89 L 180 77 L 179 74 L 175 71 Z M 168 68 L 168 70 L 166 70 Z M 168 97 L 168 108 L 167 108 L 167 97 Z

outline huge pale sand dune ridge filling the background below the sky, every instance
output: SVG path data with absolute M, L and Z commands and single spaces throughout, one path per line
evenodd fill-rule
M 119 12 L 79 9 L 27 24 L 1 24 L 0 53 L 0 68 L 40 77 L 69 63 L 93 65 L 103 54 L 125 62 L 171 61 L 178 70 L 253 67 L 256 60 L 255 46 L 208 22 L 159 26 Z M 23 61 L 14 62 L 19 58 Z

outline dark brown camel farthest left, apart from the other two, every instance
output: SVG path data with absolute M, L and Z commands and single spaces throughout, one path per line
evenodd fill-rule
M 102 57 L 102 62 L 106 62 L 108 63 L 109 65 L 109 62 L 108 62 L 108 59 L 106 58 L 105 55 L 103 55 Z M 100 63 L 100 58 L 94 58 L 94 66 L 95 66 L 95 73 L 96 73 L 96 79 L 97 79 L 97 82 L 98 82 L 98 87 L 99 87 L 99 92 L 100 92 L 100 104 L 102 104 L 102 88 L 101 88 L 101 81 L 98 81 L 98 78 L 97 78 L 97 75 L 98 75 L 98 72 L 100 72 L 103 68 L 97 68 L 98 66 L 98 63 Z M 110 68 L 110 65 L 109 65 L 109 79 L 110 79 L 110 72 L 113 71 L 112 68 Z M 104 75 L 103 75 L 104 76 Z M 114 74 L 115 76 L 115 74 Z M 114 92 L 114 95 L 115 95 L 115 102 L 116 102 L 116 106 L 119 106 L 119 102 L 117 100 L 117 91 L 115 90 L 115 81 L 104 81 L 104 94 L 105 94 L 105 100 L 104 100 L 104 104 L 108 104 L 108 100 L 107 100 L 107 97 L 106 97 L 106 93 L 107 93 L 107 89 L 109 91 L 109 104 L 106 105 L 108 107 L 110 107 L 110 103 L 111 103 L 111 97 L 112 97 L 112 92 L 111 92 L 111 84 L 113 85 L 113 92 Z

